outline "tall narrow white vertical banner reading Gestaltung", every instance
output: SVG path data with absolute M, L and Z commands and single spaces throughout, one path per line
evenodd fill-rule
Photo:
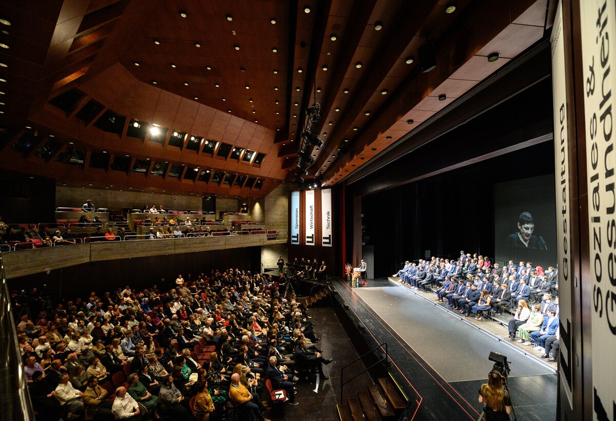
M 556 159 L 556 227 L 559 282 L 559 319 L 561 321 L 561 361 L 559 371 L 563 390 L 573 409 L 571 280 L 570 280 L 570 200 L 569 137 L 567 133 L 567 84 L 565 80 L 565 46 L 562 32 L 562 4 L 559 1 L 552 27 L 552 91 L 554 97 L 554 157 Z M 564 401 L 562 401 L 564 404 Z

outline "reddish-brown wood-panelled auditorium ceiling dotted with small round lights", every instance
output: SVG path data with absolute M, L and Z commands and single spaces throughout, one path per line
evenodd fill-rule
M 309 177 L 331 186 L 412 142 L 409 132 L 543 38 L 553 14 L 546 0 L 33 3 L 0 0 L 10 22 L 0 23 L 2 168 L 239 197 L 294 180 L 314 102 L 325 145 L 312 149 Z M 428 41 L 436 68 L 424 73 Z

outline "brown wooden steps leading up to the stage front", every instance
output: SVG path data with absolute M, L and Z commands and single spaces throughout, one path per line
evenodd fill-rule
M 381 421 L 400 415 L 406 405 L 397 386 L 390 378 L 379 378 L 378 383 L 347 398 L 346 404 L 338 405 L 340 420 Z

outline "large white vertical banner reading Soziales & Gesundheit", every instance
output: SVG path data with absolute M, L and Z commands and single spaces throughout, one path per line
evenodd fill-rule
M 616 3 L 580 1 L 593 306 L 593 419 L 616 420 Z M 583 280 L 586 282 L 586 280 Z M 612 375 L 610 375 L 610 373 Z

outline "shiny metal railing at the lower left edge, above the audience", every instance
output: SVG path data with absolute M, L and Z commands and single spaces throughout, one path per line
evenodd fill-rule
M 30 393 L 26 387 L 26 377 L 23 372 L 22 358 L 17 343 L 17 332 L 13 319 L 9 288 L 4 276 L 2 253 L 0 253 L 0 420 L 30 421 L 34 420 L 34 412 L 30 401 Z

